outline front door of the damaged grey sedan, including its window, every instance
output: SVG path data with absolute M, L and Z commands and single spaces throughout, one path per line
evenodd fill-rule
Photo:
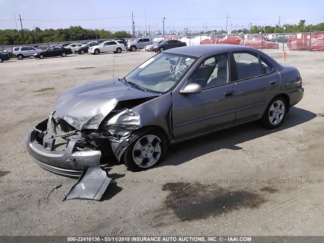
M 235 83 L 231 78 L 229 55 L 209 57 L 193 72 L 187 84 L 197 83 L 199 94 L 173 91 L 174 139 L 189 137 L 234 123 Z

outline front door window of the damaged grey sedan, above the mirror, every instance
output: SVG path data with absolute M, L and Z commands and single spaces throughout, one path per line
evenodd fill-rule
M 203 90 L 230 83 L 231 69 L 228 54 L 206 59 L 194 71 L 188 82 L 199 84 Z

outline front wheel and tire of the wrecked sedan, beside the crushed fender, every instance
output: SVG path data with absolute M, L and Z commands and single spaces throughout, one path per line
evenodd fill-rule
M 167 140 L 165 135 L 158 130 L 144 131 L 135 132 L 138 133 L 139 138 L 133 141 L 125 151 L 124 164 L 130 171 L 149 169 L 160 163 L 166 153 Z M 146 151 L 143 151 L 143 149 Z

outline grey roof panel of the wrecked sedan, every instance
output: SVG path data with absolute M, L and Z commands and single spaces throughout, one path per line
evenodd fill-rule
M 224 52 L 252 51 L 252 50 L 254 52 L 257 52 L 256 49 L 251 47 L 245 47 L 245 46 L 227 45 L 227 44 L 208 44 L 208 45 L 195 45 L 195 46 L 173 48 L 163 52 L 201 57 L 211 53 L 216 55 Z

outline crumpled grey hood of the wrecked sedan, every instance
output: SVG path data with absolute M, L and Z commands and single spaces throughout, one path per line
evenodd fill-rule
M 56 114 L 77 130 L 98 129 L 118 101 L 156 97 L 118 79 L 101 80 L 64 91 L 55 101 Z

